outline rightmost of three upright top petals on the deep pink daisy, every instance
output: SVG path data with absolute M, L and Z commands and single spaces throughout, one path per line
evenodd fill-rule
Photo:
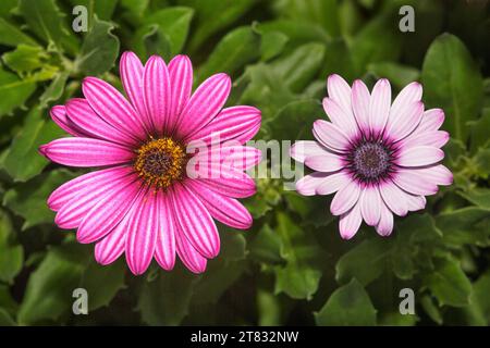
M 174 129 L 182 110 L 191 98 L 193 91 L 193 64 L 187 55 L 175 55 L 169 63 L 169 76 L 171 88 L 171 102 L 168 132 Z

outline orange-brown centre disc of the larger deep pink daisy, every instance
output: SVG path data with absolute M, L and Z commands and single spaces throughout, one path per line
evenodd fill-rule
M 137 152 L 134 169 L 147 184 L 166 188 L 182 177 L 186 153 L 184 147 L 172 138 L 151 139 Z

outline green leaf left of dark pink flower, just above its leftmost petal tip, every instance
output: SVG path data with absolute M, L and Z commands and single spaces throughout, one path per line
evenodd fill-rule
M 3 160 L 7 173 L 16 182 L 26 182 L 39 174 L 48 164 L 37 152 L 40 145 L 63 135 L 58 125 L 42 116 L 44 109 L 34 108 L 25 119 L 22 130 L 14 137 Z M 23 159 L 20 161 L 19 159 Z

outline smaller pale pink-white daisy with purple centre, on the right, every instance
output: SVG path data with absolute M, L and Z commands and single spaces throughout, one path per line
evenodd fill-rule
M 352 88 L 339 75 L 327 83 L 323 109 L 331 122 L 318 120 L 317 141 L 297 141 L 291 157 L 316 171 L 296 183 L 305 196 L 330 195 L 330 210 L 340 215 L 343 238 L 352 238 L 363 220 L 381 236 L 393 229 L 393 213 L 424 209 L 425 196 L 450 185 L 451 172 L 440 161 L 449 134 L 438 130 L 440 109 L 424 111 L 422 87 L 407 85 L 391 102 L 388 79 L 372 92 L 357 79 Z

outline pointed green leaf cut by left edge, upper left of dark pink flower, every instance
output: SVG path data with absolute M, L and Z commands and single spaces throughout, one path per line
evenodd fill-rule
M 0 116 L 10 114 L 36 90 L 36 83 L 30 78 L 21 79 L 0 67 Z

